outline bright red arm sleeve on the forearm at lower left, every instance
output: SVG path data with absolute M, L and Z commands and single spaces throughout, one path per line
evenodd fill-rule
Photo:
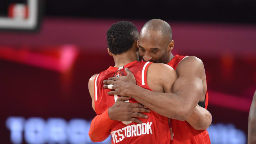
M 89 137 L 92 142 L 101 142 L 108 138 L 114 121 L 108 117 L 108 109 L 92 119 Z

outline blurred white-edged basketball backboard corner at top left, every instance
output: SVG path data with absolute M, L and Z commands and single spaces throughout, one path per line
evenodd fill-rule
M 0 1 L 0 30 L 39 30 L 43 0 Z

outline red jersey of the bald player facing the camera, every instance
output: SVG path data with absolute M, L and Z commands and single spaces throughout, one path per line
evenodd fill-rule
M 167 63 L 175 70 L 182 59 L 188 56 L 175 55 L 175 57 Z M 208 106 L 208 92 L 205 96 L 205 108 Z M 170 131 L 172 134 L 170 144 L 210 144 L 210 138 L 207 130 L 196 130 L 187 121 L 178 121 L 170 119 Z

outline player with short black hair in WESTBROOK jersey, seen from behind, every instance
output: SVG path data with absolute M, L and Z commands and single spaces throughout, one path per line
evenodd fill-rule
M 136 53 L 138 50 L 136 45 L 138 35 L 139 32 L 133 23 L 126 21 L 114 23 L 107 31 L 108 53 L 113 56 L 115 66 L 110 66 L 100 74 L 93 75 L 88 84 L 92 106 L 98 115 L 106 113 L 107 116 L 108 108 L 118 99 L 117 95 L 114 97 L 107 95 L 110 90 L 103 88 L 102 81 L 111 76 L 126 75 L 124 68 L 129 68 L 132 71 L 137 85 L 143 87 L 143 89 L 156 92 L 173 92 L 173 84 L 177 79 L 177 73 L 173 68 L 166 64 L 138 62 L 139 59 Z M 127 99 L 127 102 L 138 103 L 132 98 Z M 142 121 L 140 124 L 112 122 L 110 127 L 112 144 L 169 144 L 171 135 L 168 118 L 154 111 L 147 113 L 147 116 L 140 119 Z

